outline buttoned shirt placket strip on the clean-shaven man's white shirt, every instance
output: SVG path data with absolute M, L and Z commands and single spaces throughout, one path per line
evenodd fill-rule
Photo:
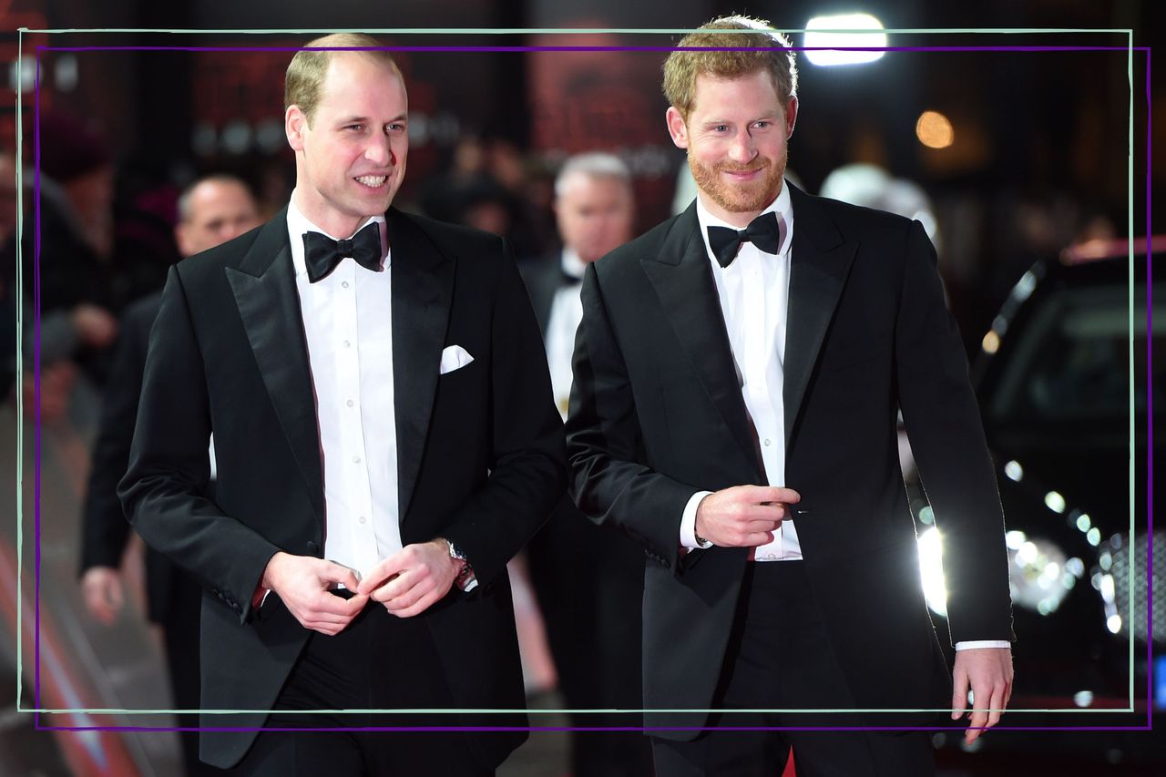
M 360 422 L 360 348 L 357 324 L 357 264 L 345 259 L 336 268 L 338 288 L 332 313 L 336 337 L 337 412 L 340 414 L 340 449 L 344 464 L 344 492 L 352 508 L 351 547 L 357 568 L 367 573 L 377 566 L 377 534 L 373 526 L 372 489 Z

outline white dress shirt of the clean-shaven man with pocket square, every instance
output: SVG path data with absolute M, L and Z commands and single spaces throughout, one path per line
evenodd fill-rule
M 368 220 L 380 224 L 381 271 L 371 272 L 346 258 L 312 284 L 304 265 L 303 233 L 328 233 L 300 212 L 295 192 L 288 205 L 288 238 L 319 424 L 324 558 L 356 570 L 357 578 L 401 550 L 392 257 L 385 217 Z

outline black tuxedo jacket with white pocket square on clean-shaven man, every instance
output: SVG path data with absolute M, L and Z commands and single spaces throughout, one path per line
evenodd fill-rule
M 419 617 L 459 708 L 521 708 L 506 561 L 566 487 L 539 329 L 500 238 L 395 209 L 386 217 L 401 539 L 448 538 L 479 582 Z M 440 374 L 442 350 L 455 344 L 473 362 Z M 211 432 L 213 501 L 202 496 Z M 322 556 L 324 547 L 319 434 L 286 212 L 170 271 L 120 495 L 146 541 L 206 589 L 203 708 L 269 709 L 309 632 L 278 601 L 253 612 L 252 594 L 276 551 Z M 409 667 L 386 656 L 385 671 Z M 265 719 L 204 714 L 203 726 Z M 230 766 L 254 736 L 204 733 L 202 757 Z M 483 737 L 478 755 L 497 763 L 524 736 Z

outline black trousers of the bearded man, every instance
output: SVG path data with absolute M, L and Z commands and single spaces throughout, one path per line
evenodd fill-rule
M 888 707 L 893 706 L 890 701 Z M 750 564 L 742 583 L 710 727 L 849 727 L 855 707 L 800 561 Z M 877 720 L 866 720 L 877 726 Z M 798 777 L 929 777 L 925 732 L 709 730 L 690 742 L 653 737 L 659 777 L 780 775 L 791 749 Z

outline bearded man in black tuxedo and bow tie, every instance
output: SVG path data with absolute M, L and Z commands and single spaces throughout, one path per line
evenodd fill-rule
M 782 35 L 728 18 L 679 46 L 695 50 L 665 65 L 667 124 L 698 196 L 588 267 L 568 420 L 576 502 L 647 555 L 656 774 L 778 774 L 791 747 L 799 774 L 934 774 L 922 733 L 791 730 L 946 704 L 955 719 L 970 685 L 971 741 L 1011 691 L 1003 516 L 934 249 L 918 222 L 784 181 L 798 98 Z M 954 688 L 899 408 L 956 551 Z

